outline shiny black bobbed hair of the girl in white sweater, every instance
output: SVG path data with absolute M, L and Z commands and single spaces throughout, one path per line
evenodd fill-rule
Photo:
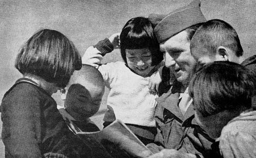
M 125 49 L 141 48 L 152 51 L 152 65 L 163 60 L 151 22 L 145 17 L 135 17 L 126 22 L 120 34 L 120 51 L 124 62 L 127 63 Z

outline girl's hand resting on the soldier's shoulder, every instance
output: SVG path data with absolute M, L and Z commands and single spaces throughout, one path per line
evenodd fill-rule
M 150 92 L 158 92 L 159 84 L 162 82 L 159 71 L 156 71 L 150 76 L 150 83 L 148 84 L 148 89 Z

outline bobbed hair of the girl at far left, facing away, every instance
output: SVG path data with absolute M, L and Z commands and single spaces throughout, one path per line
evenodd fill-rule
M 22 74 L 34 74 L 47 82 L 66 87 L 81 57 L 72 41 L 55 30 L 39 30 L 20 48 L 15 67 Z

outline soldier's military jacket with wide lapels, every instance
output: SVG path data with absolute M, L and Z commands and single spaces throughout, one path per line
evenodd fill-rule
M 155 111 L 157 123 L 155 143 L 167 149 L 208 157 L 214 151 L 211 146 L 215 140 L 196 123 L 192 104 L 183 116 L 178 107 L 179 89 L 180 85 L 174 82 L 167 93 L 156 99 L 158 105 Z

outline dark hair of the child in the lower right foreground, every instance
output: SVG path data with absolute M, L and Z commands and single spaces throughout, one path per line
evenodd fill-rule
M 242 112 L 251 108 L 255 81 L 253 73 L 242 65 L 213 62 L 194 75 L 189 95 L 203 117 L 224 110 Z

